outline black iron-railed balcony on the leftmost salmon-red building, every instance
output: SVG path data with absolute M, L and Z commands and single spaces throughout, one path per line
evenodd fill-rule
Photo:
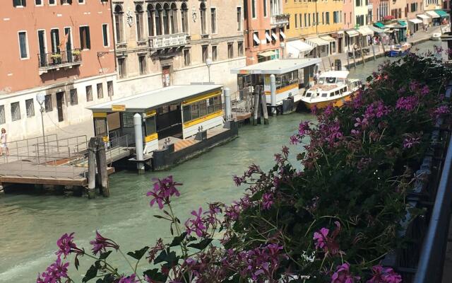
M 73 66 L 82 64 L 82 53 L 80 49 L 37 54 L 37 58 L 40 75 L 50 70 L 72 68 Z

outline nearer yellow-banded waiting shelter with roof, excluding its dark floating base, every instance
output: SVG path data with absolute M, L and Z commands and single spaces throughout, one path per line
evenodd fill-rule
M 105 141 L 125 136 L 135 140 L 137 129 L 133 116 L 141 115 L 144 154 L 149 154 L 159 148 L 159 139 L 186 139 L 201 129 L 223 125 L 222 87 L 215 84 L 168 86 L 88 109 L 93 111 L 95 135 L 104 137 Z

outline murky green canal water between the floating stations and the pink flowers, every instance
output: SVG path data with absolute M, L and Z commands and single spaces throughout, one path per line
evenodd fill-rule
M 433 43 L 417 47 L 422 51 L 432 50 Z M 356 70 L 350 71 L 350 78 L 364 81 L 384 60 L 358 65 Z M 229 204 L 241 197 L 244 188 L 234 186 L 232 175 L 242 174 L 251 163 L 268 170 L 274 164 L 273 154 L 283 145 L 289 146 L 291 151 L 299 151 L 299 146 L 289 145 L 289 137 L 301 120 L 313 119 L 307 113 L 271 117 L 270 125 L 241 127 L 238 139 L 170 171 L 144 175 L 116 173 L 110 178 L 112 196 L 109 198 L 87 200 L 23 192 L 1 195 L 0 282 L 35 282 L 37 273 L 54 260 L 56 241 L 62 233 L 75 232 L 76 243 L 89 249 L 89 241 L 98 229 L 120 243 L 124 251 L 151 246 L 158 237 L 169 237 L 167 225 L 153 218 L 158 211 L 149 206 L 149 199 L 145 197 L 152 178 L 173 175 L 175 180 L 184 183 L 181 196 L 174 200 L 174 208 L 185 221 L 191 210 L 206 207 L 208 202 Z M 295 154 L 291 161 L 299 167 Z M 113 259 L 119 262 L 119 255 L 114 255 Z M 81 282 L 81 273 L 87 267 L 82 265 L 80 272 L 71 268 L 76 282 Z M 121 267 L 124 267 L 122 271 L 130 272 L 126 266 Z

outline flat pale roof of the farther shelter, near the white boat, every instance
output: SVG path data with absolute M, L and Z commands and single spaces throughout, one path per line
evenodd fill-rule
M 320 58 L 274 59 L 258 64 L 232 69 L 231 74 L 285 74 L 311 65 L 319 64 Z

